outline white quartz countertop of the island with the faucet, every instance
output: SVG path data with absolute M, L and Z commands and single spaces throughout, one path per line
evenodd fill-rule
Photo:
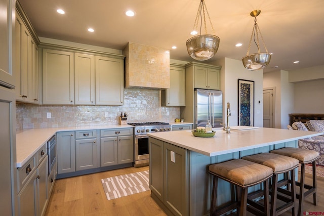
M 322 132 L 259 127 L 246 130 L 231 130 L 230 134 L 226 134 L 222 129 L 218 128 L 215 136 L 210 138 L 194 137 L 191 130 L 149 133 L 148 136 L 207 156 L 216 156 L 322 134 Z

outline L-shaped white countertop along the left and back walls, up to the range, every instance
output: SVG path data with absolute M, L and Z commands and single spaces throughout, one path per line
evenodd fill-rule
M 16 167 L 21 167 L 27 162 L 46 142 L 51 139 L 57 132 L 64 131 L 84 131 L 90 129 L 108 129 L 108 128 L 129 128 L 132 125 L 89 125 L 76 127 L 53 127 L 53 128 L 37 128 L 23 129 L 16 132 Z

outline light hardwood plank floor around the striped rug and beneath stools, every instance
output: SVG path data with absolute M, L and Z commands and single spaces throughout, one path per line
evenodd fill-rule
M 98 172 L 56 181 L 46 215 L 166 215 L 151 198 L 150 191 L 107 200 L 101 179 L 147 170 L 140 168 L 123 168 Z M 311 183 L 311 176 L 306 175 L 306 183 Z M 306 198 L 304 211 L 324 212 L 324 178 L 317 178 L 318 204 L 312 204 L 312 196 Z M 281 215 L 291 215 L 291 211 Z

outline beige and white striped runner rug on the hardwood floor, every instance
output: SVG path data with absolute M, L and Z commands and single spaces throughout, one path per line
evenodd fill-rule
M 148 171 L 115 176 L 101 180 L 108 200 L 149 190 Z

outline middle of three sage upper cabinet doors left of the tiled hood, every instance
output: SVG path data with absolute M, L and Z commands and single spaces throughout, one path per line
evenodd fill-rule
M 75 104 L 95 104 L 95 57 L 74 53 Z

